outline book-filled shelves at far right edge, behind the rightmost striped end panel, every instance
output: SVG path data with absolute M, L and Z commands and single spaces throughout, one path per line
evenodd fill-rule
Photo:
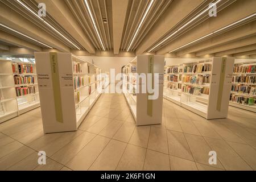
M 256 112 L 256 61 L 234 65 L 229 105 Z

